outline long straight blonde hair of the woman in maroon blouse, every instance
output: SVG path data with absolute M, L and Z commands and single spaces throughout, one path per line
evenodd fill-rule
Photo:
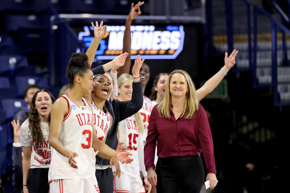
M 160 117 L 164 117 L 166 119 L 170 119 L 170 109 L 171 109 L 171 93 L 169 84 L 173 74 L 182 74 L 188 86 L 188 92 L 185 94 L 185 103 L 183 107 L 183 112 L 181 117 L 185 119 L 192 119 L 196 110 L 198 110 L 198 98 L 195 92 L 195 86 L 189 74 L 184 70 L 174 70 L 169 74 L 169 78 L 165 88 L 164 99 L 159 105 L 157 106 L 157 110 L 159 112 Z

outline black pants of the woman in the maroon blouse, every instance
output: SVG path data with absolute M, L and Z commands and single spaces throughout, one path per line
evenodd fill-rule
M 205 173 L 199 156 L 158 158 L 157 193 L 199 193 Z

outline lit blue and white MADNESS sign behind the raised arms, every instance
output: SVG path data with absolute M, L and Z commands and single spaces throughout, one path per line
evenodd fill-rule
M 107 26 L 107 33 L 101 40 L 96 52 L 98 60 L 112 60 L 122 54 L 125 26 Z M 143 59 L 175 59 L 183 49 L 183 26 L 131 26 L 131 59 L 137 54 Z M 89 47 L 94 38 L 92 26 L 84 26 L 79 32 L 79 40 Z M 76 52 L 83 52 L 77 48 Z

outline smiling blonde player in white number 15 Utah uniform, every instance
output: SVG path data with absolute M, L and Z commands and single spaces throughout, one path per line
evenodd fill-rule
M 131 100 L 133 88 L 133 76 L 122 74 L 118 78 L 118 93 L 120 101 Z M 144 182 L 148 192 L 151 185 L 147 180 L 147 172 L 144 165 L 143 153 L 143 134 L 144 125 L 140 113 L 128 117 L 119 123 L 119 141 L 124 143 L 122 146 L 127 147 L 128 152 L 133 154 L 134 162 L 130 164 L 120 164 L 121 177 L 114 178 L 114 191 L 140 193 L 145 192 L 143 182 L 140 178 L 139 166 L 142 170 Z

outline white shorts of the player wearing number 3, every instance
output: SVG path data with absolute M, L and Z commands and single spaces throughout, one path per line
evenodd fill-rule
M 49 183 L 50 193 L 100 193 L 96 177 L 88 179 L 57 179 Z

